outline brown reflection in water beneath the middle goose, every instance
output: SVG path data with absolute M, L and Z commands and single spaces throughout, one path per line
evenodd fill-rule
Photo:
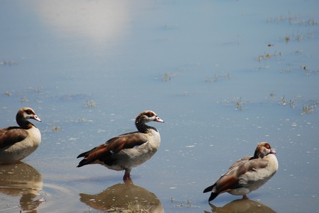
M 80 200 L 94 209 L 107 212 L 143 210 L 143 212 L 164 212 L 162 203 L 152 192 L 133 184 L 132 180 L 112 185 L 97 195 L 79 194 Z

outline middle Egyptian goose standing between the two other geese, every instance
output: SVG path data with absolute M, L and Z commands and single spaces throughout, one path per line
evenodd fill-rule
M 151 121 L 164 122 L 152 111 L 140 113 L 135 119 L 138 132 L 113 137 L 105 144 L 80 154 L 77 158 L 84 159 L 77 167 L 99 163 L 116 171 L 125 170 L 123 180 L 129 180 L 132 168 L 150 159 L 159 148 L 161 139 L 158 130 L 145 124 Z

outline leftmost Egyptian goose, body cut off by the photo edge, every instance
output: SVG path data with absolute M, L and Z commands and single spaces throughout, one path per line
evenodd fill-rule
M 38 148 L 41 133 L 28 119 L 41 122 L 31 108 L 21 108 L 16 114 L 19 127 L 0 129 L 0 163 L 16 163 Z

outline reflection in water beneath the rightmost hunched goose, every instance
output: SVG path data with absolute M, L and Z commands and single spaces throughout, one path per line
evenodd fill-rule
M 213 213 L 230 213 L 230 212 L 237 212 L 237 213 L 253 213 L 253 212 L 260 212 L 260 213 L 276 213 L 273 209 L 263 205 L 260 202 L 256 202 L 254 200 L 249 199 L 240 199 L 240 200 L 233 200 L 228 204 L 224 205 L 223 207 L 216 207 L 211 203 L 211 212 Z M 209 213 L 204 211 L 205 213 Z

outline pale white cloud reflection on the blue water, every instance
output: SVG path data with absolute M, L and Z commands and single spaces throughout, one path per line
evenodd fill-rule
M 62 36 L 110 42 L 126 35 L 130 4 L 126 1 L 36 1 L 43 23 Z

